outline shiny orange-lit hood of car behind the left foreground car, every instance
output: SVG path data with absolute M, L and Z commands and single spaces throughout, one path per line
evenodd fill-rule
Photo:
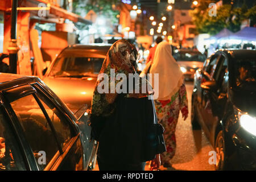
M 46 77 L 43 81 L 75 113 L 81 105 L 90 107 L 97 77 Z

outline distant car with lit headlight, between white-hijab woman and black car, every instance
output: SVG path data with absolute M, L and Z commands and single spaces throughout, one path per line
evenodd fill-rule
M 176 49 L 174 51 L 174 58 L 180 65 L 180 70 L 185 80 L 193 80 L 196 70 L 203 67 L 207 57 L 193 49 Z

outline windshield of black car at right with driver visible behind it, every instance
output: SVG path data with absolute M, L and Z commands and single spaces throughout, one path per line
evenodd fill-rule
M 256 90 L 256 59 L 236 60 L 234 72 L 238 88 Z

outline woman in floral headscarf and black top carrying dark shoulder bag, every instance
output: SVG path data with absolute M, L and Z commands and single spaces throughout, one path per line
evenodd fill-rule
M 160 153 L 166 151 L 163 140 L 163 127 L 157 124 L 154 101 L 151 99 L 154 90 L 149 85 L 146 92 L 134 93 L 133 86 L 127 86 L 127 92 L 109 92 L 108 85 L 114 88 L 121 81 L 112 79 L 115 75 L 136 73 L 138 52 L 127 40 L 118 40 L 110 47 L 102 64 L 100 75 L 94 89 L 90 111 L 92 138 L 99 142 L 97 162 L 100 171 L 144 170 L 147 161 L 151 160 L 152 169 L 160 167 Z M 102 93 L 98 87 L 104 75 Z M 110 77 L 110 80 L 105 76 Z M 122 78 L 125 83 L 126 78 Z M 143 78 L 139 79 L 141 89 Z M 146 81 L 146 79 L 144 80 Z M 127 82 L 126 82 L 127 83 Z M 130 83 L 130 82 L 129 82 Z M 138 82 L 137 82 L 138 83 Z M 123 89 L 126 87 L 122 85 Z M 136 88 L 136 85 L 135 85 Z M 133 92 L 128 92 L 133 91 Z

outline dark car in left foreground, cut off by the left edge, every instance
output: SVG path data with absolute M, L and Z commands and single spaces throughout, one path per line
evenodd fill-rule
M 0 170 L 86 170 L 97 143 L 89 126 L 37 77 L 0 73 Z M 82 129 L 81 131 L 79 126 Z

